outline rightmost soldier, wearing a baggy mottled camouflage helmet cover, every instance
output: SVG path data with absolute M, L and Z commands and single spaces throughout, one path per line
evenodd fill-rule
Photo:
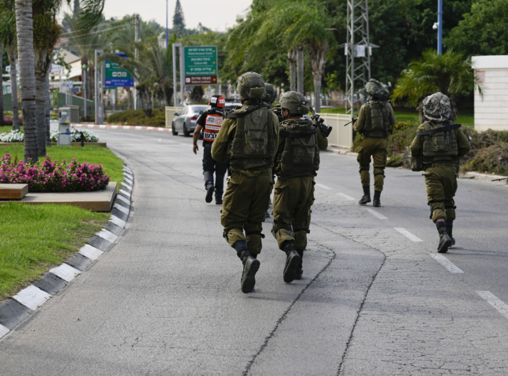
M 418 127 L 411 142 L 411 169 L 425 173 L 430 218 L 439 233 L 437 252 L 447 252 L 455 244 L 452 236 L 455 220 L 454 196 L 457 192 L 459 158 L 470 149 L 469 141 L 450 120 L 450 99 L 436 92 L 423 100 L 428 119 Z

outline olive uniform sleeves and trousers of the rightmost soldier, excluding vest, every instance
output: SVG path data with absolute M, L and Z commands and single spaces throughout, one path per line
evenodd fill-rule
M 439 123 L 439 126 L 447 122 Z M 424 131 L 425 124 L 418 127 L 418 131 Z M 455 201 L 454 196 L 457 192 L 457 167 L 459 158 L 464 156 L 470 149 L 467 137 L 460 128 L 453 130 L 457 140 L 457 155 L 454 158 L 432 157 L 424 159 L 425 166 L 425 187 L 427 191 L 427 201 L 430 206 L 431 219 L 435 223 L 439 218 L 445 221 L 455 220 Z M 423 143 L 425 137 L 416 136 L 410 146 L 411 155 L 419 156 L 423 153 Z

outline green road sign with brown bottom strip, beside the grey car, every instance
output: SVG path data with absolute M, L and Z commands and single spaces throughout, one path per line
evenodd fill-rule
M 185 85 L 213 85 L 217 83 L 217 47 L 183 47 Z

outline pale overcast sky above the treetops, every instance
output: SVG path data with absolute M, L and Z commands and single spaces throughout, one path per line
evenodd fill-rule
M 138 13 L 143 21 L 155 20 L 166 26 L 166 1 L 168 27 L 173 27 L 176 0 L 106 0 L 103 14 L 106 18 Z M 71 2 L 72 3 L 72 2 Z M 185 28 L 195 29 L 198 23 L 216 32 L 225 32 L 236 24 L 237 15 L 244 15 L 252 0 L 180 0 Z M 67 11 L 69 12 L 69 10 Z

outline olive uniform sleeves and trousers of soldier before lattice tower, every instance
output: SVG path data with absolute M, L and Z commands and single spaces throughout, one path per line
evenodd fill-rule
M 377 103 L 378 101 L 369 101 L 370 103 Z M 385 108 L 388 112 L 388 121 L 390 126 L 395 125 L 395 114 L 392 106 L 387 102 L 384 103 Z M 362 140 L 360 141 L 360 149 L 358 150 L 357 161 L 360 165 L 360 179 L 362 186 L 370 186 L 370 158 L 372 156 L 372 166 L 374 168 L 374 190 L 382 192 L 384 184 L 384 169 L 387 162 L 387 147 L 388 147 L 388 135 L 386 132 L 380 133 L 380 131 L 367 131 L 372 128 L 367 124 L 367 111 L 369 107 L 367 104 L 360 107 L 358 118 L 355 122 L 355 129 L 357 132 L 362 134 Z

